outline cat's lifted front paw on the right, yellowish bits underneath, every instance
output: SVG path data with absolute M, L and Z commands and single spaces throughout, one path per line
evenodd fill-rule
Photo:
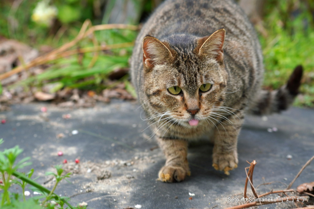
M 229 171 L 238 167 L 237 152 L 213 154 L 213 167 L 216 170 L 223 170 L 226 175 L 230 175 Z

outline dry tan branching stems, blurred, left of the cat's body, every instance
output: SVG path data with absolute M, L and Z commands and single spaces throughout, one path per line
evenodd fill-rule
M 93 35 L 92 40 L 94 43 L 94 47 L 92 48 L 85 48 L 85 52 L 83 49 L 79 49 L 79 50 L 70 50 L 70 51 L 66 51 L 69 48 L 73 47 L 75 44 L 77 44 L 80 40 L 84 39 L 85 37 L 93 34 L 95 31 L 98 30 L 108 30 L 108 29 L 128 29 L 128 30 L 138 30 L 139 26 L 135 26 L 135 25 L 126 25 L 126 24 L 106 24 L 106 25 L 95 25 L 90 27 L 88 30 L 88 26 L 91 25 L 90 20 L 85 20 L 85 22 L 82 25 L 82 28 L 80 29 L 78 35 L 76 36 L 76 38 L 72 41 L 70 41 L 67 44 L 62 45 L 61 47 L 59 47 L 58 49 L 55 49 L 53 51 L 51 51 L 50 53 L 48 53 L 47 55 L 43 55 L 40 57 L 37 57 L 36 59 L 30 61 L 28 64 L 26 64 L 25 66 L 17 66 L 16 68 L 14 68 L 11 71 L 8 71 L 6 73 L 3 73 L 0 75 L 0 81 L 8 78 L 9 76 L 12 76 L 16 73 L 19 73 L 23 70 L 28 70 L 31 67 L 34 66 L 38 66 L 38 65 L 42 65 L 45 64 L 49 61 L 52 60 L 57 60 L 59 58 L 62 58 L 64 56 L 69 56 L 69 55 L 73 55 L 73 54 L 77 54 L 77 53 L 87 53 L 87 52 L 97 52 L 100 50 L 110 50 L 110 49 L 118 49 L 118 48 L 124 48 L 124 47 L 130 47 L 133 46 L 133 43 L 122 43 L 122 44 L 112 44 L 112 45 L 107 45 L 107 46 L 99 46 L 97 39 L 95 38 L 95 35 Z M 87 30 L 87 31 L 86 31 Z M 81 51 L 83 50 L 83 51 Z M 93 66 L 96 62 L 98 58 L 98 53 L 94 54 L 94 57 L 92 59 L 92 61 L 89 63 L 89 67 Z

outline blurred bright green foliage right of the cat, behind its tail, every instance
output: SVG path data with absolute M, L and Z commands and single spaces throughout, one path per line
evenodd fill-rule
M 303 101 L 295 105 L 314 106 L 314 1 L 267 0 L 264 26 L 268 37 L 260 35 L 263 48 L 264 86 L 276 89 L 286 83 L 296 65 L 303 65 L 306 79 L 300 90 Z

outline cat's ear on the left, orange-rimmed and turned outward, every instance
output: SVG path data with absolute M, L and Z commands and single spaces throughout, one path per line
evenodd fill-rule
M 146 36 L 142 43 L 143 48 L 143 64 L 151 69 L 154 65 L 163 64 L 166 60 L 172 58 L 169 48 L 160 40 Z

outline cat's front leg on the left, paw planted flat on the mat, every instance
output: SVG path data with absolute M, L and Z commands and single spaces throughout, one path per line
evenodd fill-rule
M 166 156 L 166 163 L 158 174 L 159 179 L 164 182 L 183 181 L 186 175 L 190 175 L 187 141 L 164 138 L 157 138 L 157 141 Z

